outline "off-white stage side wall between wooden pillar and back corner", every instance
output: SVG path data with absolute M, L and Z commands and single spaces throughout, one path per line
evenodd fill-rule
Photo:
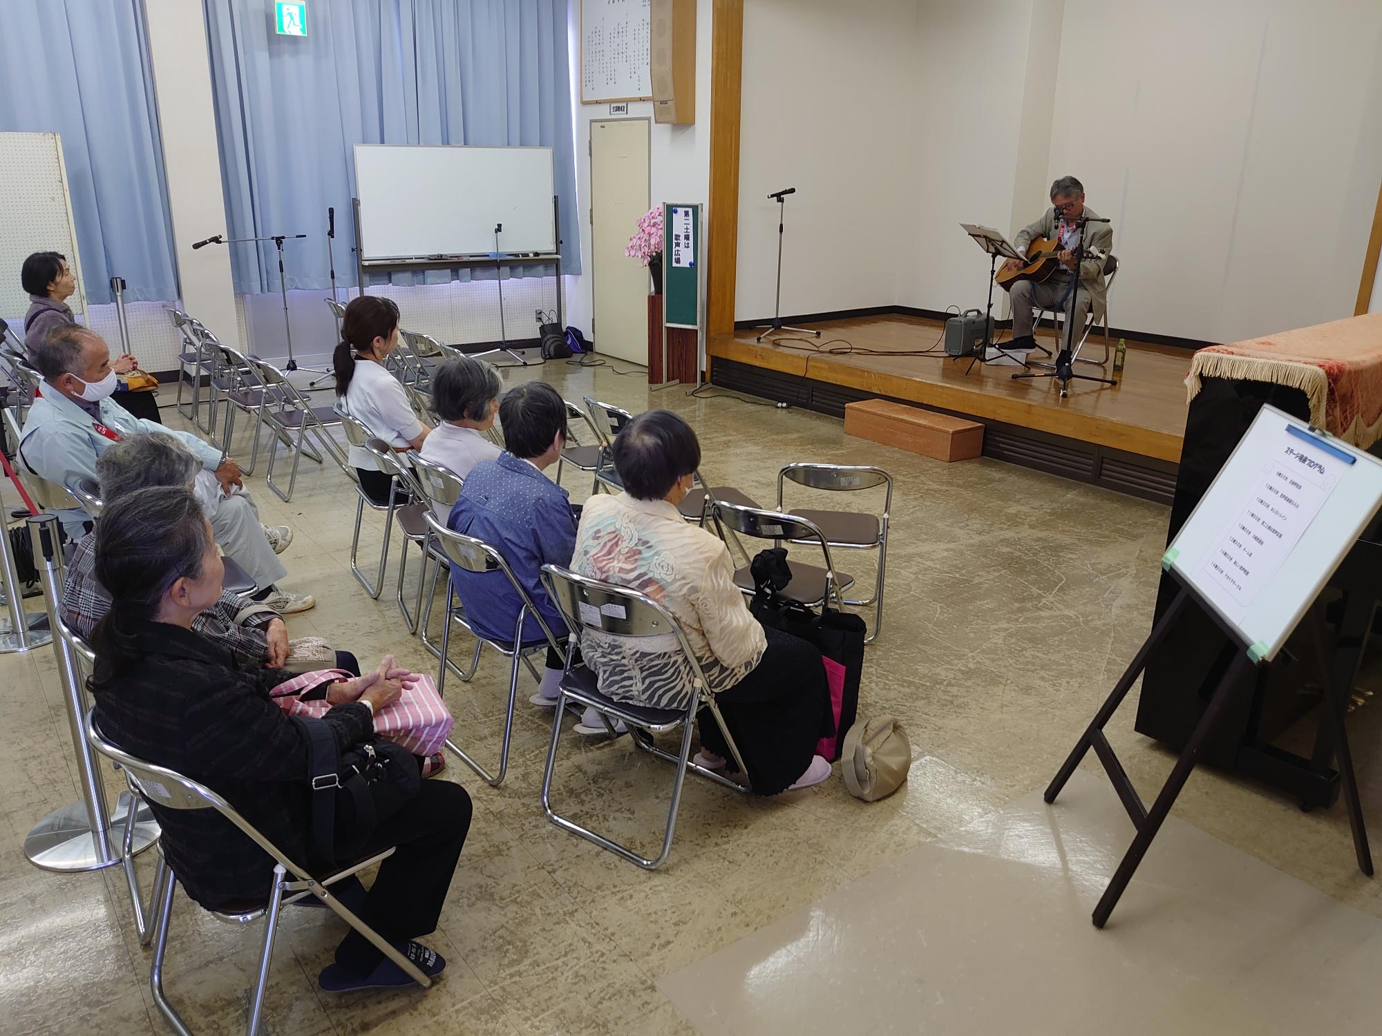
M 748 0 L 735 318 L 773 316 L 786 199 L 782 312 L 891 305 L 916 203 L 915 0 Z M 714 214 L 712 213 L 713 218 Z

